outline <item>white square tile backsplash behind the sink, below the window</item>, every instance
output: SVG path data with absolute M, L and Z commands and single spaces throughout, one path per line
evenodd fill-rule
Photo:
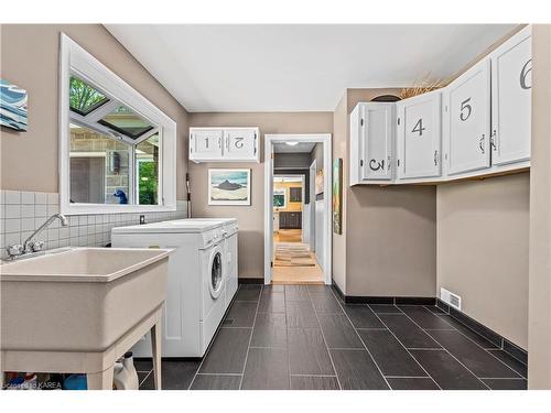
M 55 193 L 0 191 L 0 249 L 6 258 L 6 247 L 23 242 L 53 214 L 60 211 L 60 196 Z M 179 200 L 176 211 L 143 214 L 106 214 L 69 216 L 68 227 L 55 220 L 37 239 L 45 249 L 58 247 L 105 247 L 111 240 L 115 227 L 137 225 L 140 215 L 145 222 L 186 217 L 187 204 Z

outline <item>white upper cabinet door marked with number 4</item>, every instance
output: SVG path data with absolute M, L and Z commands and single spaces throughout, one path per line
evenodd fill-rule
M 437 90 L 396 104 L 399 180 L 441 175 L 441 100 Z

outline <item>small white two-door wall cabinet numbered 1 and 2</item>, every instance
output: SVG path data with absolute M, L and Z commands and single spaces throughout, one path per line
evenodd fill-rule
M 190 161 L 259 162 L 258 128 L 190 128 Z

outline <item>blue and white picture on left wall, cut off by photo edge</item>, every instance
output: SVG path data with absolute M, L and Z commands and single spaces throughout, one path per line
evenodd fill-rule
M 0 79 L 0 124 L 26 131 L 26 90 Z

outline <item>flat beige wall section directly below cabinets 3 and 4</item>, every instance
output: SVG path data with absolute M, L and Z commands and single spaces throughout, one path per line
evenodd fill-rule
M 347 295 L 434 296 L 435 195 L 434 186 L 348 192 Z

